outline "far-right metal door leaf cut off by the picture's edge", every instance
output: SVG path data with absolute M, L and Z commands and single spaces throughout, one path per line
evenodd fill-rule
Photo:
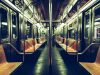
M 100 3 L 92 8 L 92 42 L 99 43 L 92 46 L 92 62 L 95 61 L 100 46 Z

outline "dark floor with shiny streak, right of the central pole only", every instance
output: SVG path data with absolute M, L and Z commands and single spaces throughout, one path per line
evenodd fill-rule
M 68 62 L 65 54 L 62 48 L 53 47 L 52 75 L 87 75 L 78 63 Z

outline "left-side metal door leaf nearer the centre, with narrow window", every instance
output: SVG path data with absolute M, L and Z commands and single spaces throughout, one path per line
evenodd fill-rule
M 18 24 L 17 24 L 17 13 L 10 10 L 10 43 L 18 50 Z M 11 47 L 11 61 L 16 62 L 19 60 L 18 53 Z

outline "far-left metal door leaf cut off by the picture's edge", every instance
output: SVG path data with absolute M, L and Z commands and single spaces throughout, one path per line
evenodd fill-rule
M 0 3 L 0 44 L 3 46 L 6 60 L 10 62 L 10 22 L 9 8 Z

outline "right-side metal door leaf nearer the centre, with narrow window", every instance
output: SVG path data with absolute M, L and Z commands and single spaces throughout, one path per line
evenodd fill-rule
M 91 9 L 84 13 L 84 47 L 87 48 L 91 44 Z M 83 54 L 83 60 L 91 61 L 90 48 Z

